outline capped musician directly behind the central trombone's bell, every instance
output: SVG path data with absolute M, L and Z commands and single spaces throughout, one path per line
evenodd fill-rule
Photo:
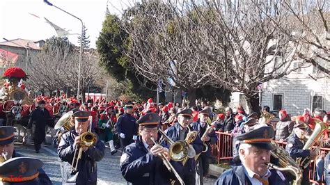
M 168 138 L 171 138 L 173 142 L 178 140 L 184 140 L 189 132 L 189 124 L 192 121 L 193 115 L 191 109 L 184 109 L 177 113 L 178 122 L 175 122 L 173 126 L 168 127 L 165 133 Z M 193 130 L 193 129 L 191 129 Z M 203 142 L 199 136 L 190 143 L 196 154 L 200 154 L 203 150 Z M 183 166 L 181 161 L 173 162 L 175 170 L 181 175 L 184 184 L 196 184 L 196 161 L 194 158 L 189 158 L 187 163 Z

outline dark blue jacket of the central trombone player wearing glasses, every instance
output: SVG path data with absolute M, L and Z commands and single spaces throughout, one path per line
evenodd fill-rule
M 171 172 L 159 156 L 146 149 L 141 137 L 125 147 L 120 158 L 120 171 L 132 184 L 171 184 Z

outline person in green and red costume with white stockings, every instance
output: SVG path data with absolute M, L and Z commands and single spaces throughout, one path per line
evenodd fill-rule
M 116 113 L 113 112 L 113 106 L 105 108 L 104 113 L 101 113 L 98 126 L 100 128 L 100 140 L 104 143 L 109 141 L 109 147 L 111 155 L 116 154 L 117 150 L 113 145 L 113 133 L 112 130 L 114 123 L 117 122 Z

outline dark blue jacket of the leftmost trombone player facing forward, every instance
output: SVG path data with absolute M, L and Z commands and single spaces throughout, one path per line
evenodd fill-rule
M 74 138 L 78 134 L 74 129 L 62 135 L 58 145 L 58 157 L 63 161 L 63 182 L 67 182 L 71 175 L 77 175 L 76 184 L 96 184 L 97 182 L 97 164 L 104 156 L 105 146 L 99 138 L 93 147 L 89 147 L 86 152 L 82 152 L 79 159 L 77 171 L 78 174 L 71 174 L 72 160 L 74 157 Z M 78 153 L 78 152 L 77 152 Z

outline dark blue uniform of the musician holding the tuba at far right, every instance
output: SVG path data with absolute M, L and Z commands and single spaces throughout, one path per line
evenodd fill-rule
M 285 147 L 285 150 L 288 151 L 292 159 L 297 159 L 297 157 L 302 157 L 302 160 L 307 156 L 310 156 L 310 150 L 302 150 L 304 147 L 304 140 L 301 140 L 297 137 L 296 134 L 293 134 L 288 138 L 288 144 Z M 301 160 L 301 161 L 302 161 Z M 301 184 L 310 184 L 309 183 L 309 168 L 303 169 L 303 179 Z

